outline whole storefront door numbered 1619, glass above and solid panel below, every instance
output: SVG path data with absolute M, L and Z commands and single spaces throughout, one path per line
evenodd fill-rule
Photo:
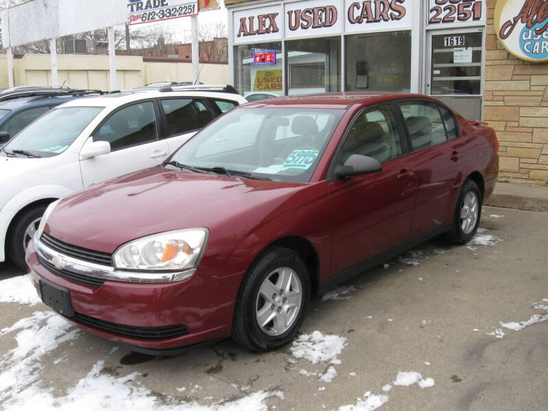
M 428 33 L 426 92 L 466 119 L 482 117 L 483 29 Z

